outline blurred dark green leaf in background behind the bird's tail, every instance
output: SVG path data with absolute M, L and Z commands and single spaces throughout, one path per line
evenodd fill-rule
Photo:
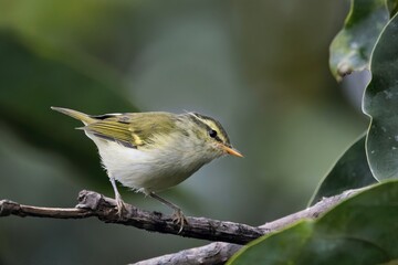
M 134 112 L 122 83 L 73 54 L 10 32 L 0 32 L 0 120 L 32 145 L 63 153 L 93 178 L 104 174 L 94 145 L 74 130 L 81 124 L 50 106 L 92 114 Z

